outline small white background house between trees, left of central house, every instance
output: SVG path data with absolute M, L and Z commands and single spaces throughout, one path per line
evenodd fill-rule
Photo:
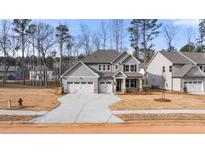
M 53 80 L 53 71 L 45 66 L 36 66 L 29 70 L 29 80 L 43 80 L 44 74 L 47 73 L 47 79 Z

